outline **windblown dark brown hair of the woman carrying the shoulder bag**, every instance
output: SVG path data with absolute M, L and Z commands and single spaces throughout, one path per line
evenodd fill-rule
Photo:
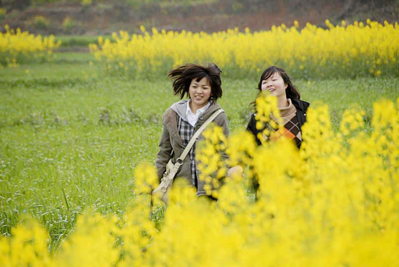
M 211 95 L 210 97 L 214 100 L 221 98 L 221 70 L 214 63 L 208 63 L 207 67 L 199 64 L 188 63 L 180 66 L 174 70 L 171 70 L 168 77 L 172 78 L 173 81 L 173 94 L 175 96 L 180 95 L 183 99 L 185 95 L 189 94 L 190 84 L 193 79 L 197 79 L 199 82 L 202 78 L 206 78 L 210 86 Z

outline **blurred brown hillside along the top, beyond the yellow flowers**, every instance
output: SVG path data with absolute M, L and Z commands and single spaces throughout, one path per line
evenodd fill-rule
M 5 24 L 35 34 L 104 35 L 121 29 L 217 32 L 238 27 L 251 31 L 298 20 L 324 26 L 367 18 L 394 23 L 399 0 L 0 0 L 0 29 Z

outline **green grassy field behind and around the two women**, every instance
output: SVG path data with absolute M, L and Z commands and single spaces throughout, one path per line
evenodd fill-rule
M 154 162 L 163 112 L 179 100 L 171 81 L 159 73 L 147 80 L 104 75 L 90 61 L 91 54 L 68 52 L 0 70 L 1 234 L 29 213 L 57 247 L 86 208 L 121 215 L 135 167 Z M 246 127 L 258 78 L 222 76 L 219 104 L 231 133 Z M 346 109 L 358 105 L 370 122 L 373 102 L 399 97 L 398 77 L 292 79 L 303 100 L 329 105 L 336 131 Z

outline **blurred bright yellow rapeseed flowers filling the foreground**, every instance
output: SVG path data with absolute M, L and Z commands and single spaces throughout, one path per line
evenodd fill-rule
M 273 109 L 261 105 L 258 110 Z M 206 173 L 218 172 L 221 165 L 213 162 L 220 160 L 213 156 L 218 149 L 225 149 L 229 165 L 245 167 L 246 177 L 224 178 L 217 202 L 174 184 L 157 225 L 151 214 L 158 207 L 145 194 L 156 174 L 145 163 L 135 176 L 149 181 L 138 183 L 121 218 L 87 211 L 53 255 L 46 250 L 48 234 L 24 219 L 10 237 L 0 238 L 0 264 L 398 266 L 399 99 L 375 103 L 369 126 L 361 115 L 345 113 L 348 135 L 333 132 L 327 105 L 309 108 L 299 150 L 285 139 L 257 146 L 251 133 L 225 138 L 217 128 L 206 131 L 201 150 Z M 348 127 L 352 122 L 356 129 Z M 210 149 L 210 144 L 219 146 Z M 247 192 L 254 180 L 256 200 Z

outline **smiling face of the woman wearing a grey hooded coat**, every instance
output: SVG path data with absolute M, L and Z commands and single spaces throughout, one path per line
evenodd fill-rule
M 212 94 L 212 90 L 206 77 L 203 77 L 199 82 L 197 82 L 197 78 L 194 78 L 190 84 L 189 94 L 192 103 L 191 108 L 195 113 L 198 109 L 208 103 L 210 95 Z

